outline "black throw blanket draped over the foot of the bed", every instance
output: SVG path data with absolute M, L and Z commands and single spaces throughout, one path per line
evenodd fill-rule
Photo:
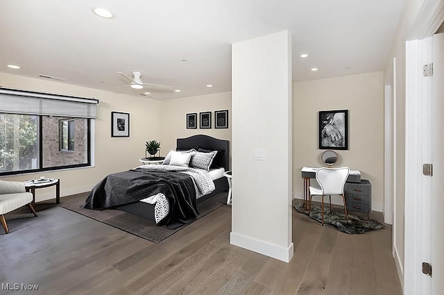
M 169 201 L 169 214 L 158 225 L 177 227 L 198 215 L 196 189 L 191 176 L 173 171 L 136 168 L 106 176 L 92 189 L 83 208 L 110 208 L 140 201 L 155 194 Z

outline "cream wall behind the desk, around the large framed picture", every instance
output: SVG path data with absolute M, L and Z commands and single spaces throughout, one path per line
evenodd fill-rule
M 348 150 L 336 150 L 339 162 L 361 171 L 372 185 L 372 210 L 384 203 L 384 81 L 382 72 L 293 84 L 293 189 L 302 199 L 300 169 L 322 167 L 318 149 L 318 111 L 348 110 Z M 340 196 L 332 201 L 342 204 Z

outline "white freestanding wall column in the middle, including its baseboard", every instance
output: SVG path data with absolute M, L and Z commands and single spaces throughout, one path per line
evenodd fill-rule
M 289 261 L 291 37 L 232 44 L 231 244 Z M 264 160 L 253 160 L 259 149 Z

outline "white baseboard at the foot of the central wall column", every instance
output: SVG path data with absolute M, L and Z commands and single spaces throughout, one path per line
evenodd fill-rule
M 290 262 L 291 258 L 293 258 L 293 243 L 291 243 L 288 248 L 285 248 L 231 232 L 230 244 L 255 251 L 283 262 Z

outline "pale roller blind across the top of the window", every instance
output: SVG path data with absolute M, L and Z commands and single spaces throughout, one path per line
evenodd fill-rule
M 98 99 L 0 87 L 0 112 L 96 119 Z

